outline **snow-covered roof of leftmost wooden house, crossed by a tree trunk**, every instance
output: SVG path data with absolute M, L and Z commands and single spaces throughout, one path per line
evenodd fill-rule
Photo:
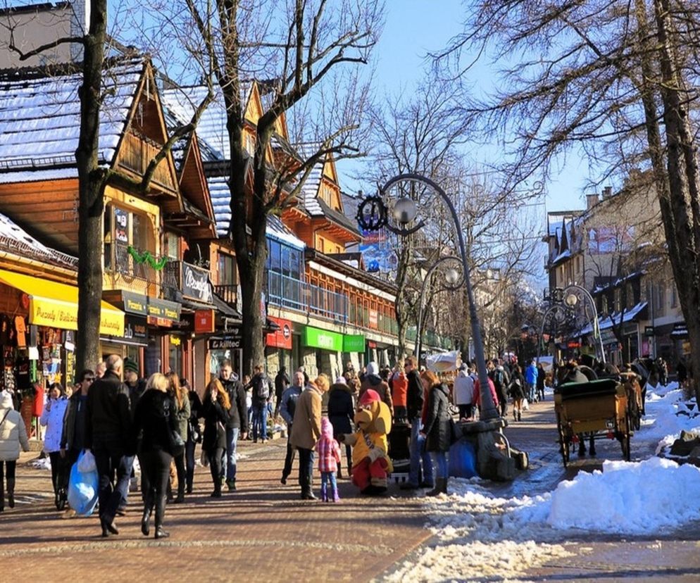
M 101 162 L 112 162 L 143 70 L 142 59 L 131 59 L 111 67 L 103 77 Z M 0 172 L 13 173 L 3 177 L 4 182 L 32 180 L 27 171 L 42 168 L 42 180 L 61 178 L 65 177 L 61 167 L 75 166 L 81 83 L 81 73 L 24 79 L 6 73 L 0 79 Z

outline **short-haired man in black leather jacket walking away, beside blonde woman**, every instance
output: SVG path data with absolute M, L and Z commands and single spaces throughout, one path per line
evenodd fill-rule
M 109 356 L 104 377 L 93 382 L 87 394 L 85 449 L 92 450 L 99 474 L 99 518 L 103 537 L 119 534 L 114 517 L 129 492 L 129 461 L 135 453 L 129 389 L 121 380 L 122 365 L 120 356 Z

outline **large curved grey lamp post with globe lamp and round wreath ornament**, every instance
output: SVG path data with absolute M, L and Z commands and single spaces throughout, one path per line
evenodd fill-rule
M 437 184 L 437 182 L 420 174 L 408 173 L 394 176 L 387 181 L 382 189 L 380 189 L 380 196 L 369 196 L 363 201 L 360 208 L 358 208 L 358 223 L 361 225 L 361 227 L 367 230 L 378 230 L 382 227 L 387 227 L 387 229 L 389 229 L 391 232 L 399 234 L 400 236 L 406 236 L 420 230 L 420 228 L 425 224 L 423 220 L 420 220 L 418 224 L 414 225 L 413 227 L 408 227 L 409 223 L 413 222 L 418 215 L 418 208 L 415 201 L 408 196 L 401 197 L 401 199 L 397 200 L 394 204 L 393 218 L 399 224 L 399 228 L 389 224 L 384 199 L 387 197 L 387 192 L 389 189 L 393 187 L 394 184 L 398 184 L 399 182 L 415 182 L 423 185 L 424 187 L 430 187 L 440 196 L 444 206 L 446 206 L 446 208 L 449 210 L 452 221 L 454 222 L 458 251 L 464 274 L 464 287 L 469 306 L 469 319 L 472 328 L 472 338 L 474 341 L 474 356 L 477 364 L 479 384 L 481 387 L 481 418 L 482 420 L 499 419 L 500 415 L 496 409 L 496 403 L 494 403 L 491 396 L 491 391 L 489 391 L 489 375 L 486 370 L 486 358 L 484 356 L 484 345 L 481 337 L 481 327 L 479 324 L 476 302 L 474 300 L 472 284 L 469 278 L 469 262 L 464 244 L 464 235 L 462 233 L 461 222 L 457 215 L 457 211 L 455 210 L 454 204 L 450 200 L 447 193 L 442 189 L 442 187 L 439 186 L 439 184 Z M 370 212 L 368 213 L 367 211 Z

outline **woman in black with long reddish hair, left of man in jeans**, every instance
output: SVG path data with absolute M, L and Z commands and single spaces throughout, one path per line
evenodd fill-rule
M 221 460 L 226 451 L 226 423 L 229 419 L 231 401 L 223 384 L 218 379 L 209 383 L 202 399 L 204 437 L 201 447 L 209 460 L 211 479 L 214 482 L 212 498 L 221 497 Z

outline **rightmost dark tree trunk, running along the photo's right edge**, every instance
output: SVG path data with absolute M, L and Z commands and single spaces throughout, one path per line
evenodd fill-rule
M 668 0 L 655 0 L 654 11 L 670 195 L 668 204 L 661 204 L 662 220 L 668 241 L 673 241 L 669 243 L 670 263 L 688 330 L 692 371 L 697 375 L 700 372 L 700 180 L 690 112 L 685 96 L 680 94 L 685 93 L 685 83 L 669 40 L 673 30 Z M 700 399 L 696 382 L 694 390 Z

